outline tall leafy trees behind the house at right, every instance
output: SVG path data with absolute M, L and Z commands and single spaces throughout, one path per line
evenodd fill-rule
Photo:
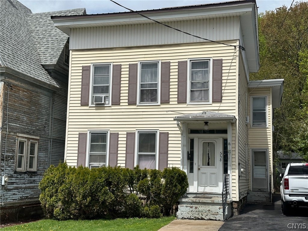
M 308 2 L 259 15 L 261 67 L 250 80 L 285 79 L 274 111 L 274 152 L 299 152 L 308 161 Z

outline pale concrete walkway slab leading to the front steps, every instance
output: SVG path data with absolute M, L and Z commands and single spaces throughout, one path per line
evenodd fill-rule
M 224 221 L 174 220 L 158 231 L 218 231 Z

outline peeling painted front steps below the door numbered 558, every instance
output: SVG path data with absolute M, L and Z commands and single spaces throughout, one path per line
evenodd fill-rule
M 230 216 L 231 203 L 229 201 L 225 207 L 225 220 Z M 187 193 L 186 197 L 179 199 L 177 218 L 223 221 L 221 194 Z

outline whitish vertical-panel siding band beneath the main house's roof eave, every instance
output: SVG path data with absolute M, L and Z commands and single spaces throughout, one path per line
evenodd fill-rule
M 164 22 L 164 24 L 213 41 L 239 39 L 240 17 L 196 19 Z M 146 23 L 71 29 L 70 49 L 151 46 L 203 41 L 203 39 L 158 23 Z

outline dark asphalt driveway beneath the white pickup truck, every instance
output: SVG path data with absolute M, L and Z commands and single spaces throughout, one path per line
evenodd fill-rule
M 280 194 L 273 205 L 245 205 L 240 215 L 229 218 L 219 231 L 308 230 L 308 207 L 293 208 L 289 216 L 281 212 Z

